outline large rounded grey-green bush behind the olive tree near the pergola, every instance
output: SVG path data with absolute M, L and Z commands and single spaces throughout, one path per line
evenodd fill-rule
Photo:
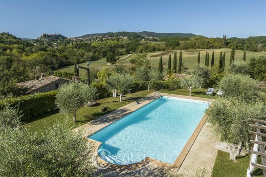
M 225 97 L 237 98 L 239 101 L 255 101 L 261 98 L 256 81 L 241 74 L 228 74 L 220 80 L 219 87 Z

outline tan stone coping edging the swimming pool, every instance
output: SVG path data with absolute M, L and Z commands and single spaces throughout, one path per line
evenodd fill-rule
M 197 100 L 197 101 L 207 101 L 207 102 L 212 102 L 213 99 L 208 99 L 208 98 L 200 98 L 200 97 L 190 97 L 190 96 L 183 96 L 183 95 L 175 95 L 175 94 L 168 94 L 168 93 L 161 93 L 162 96 L 169 96 L 169 97 L 176 97 L 176 98 L 183 98 L 183 99 L 190 99 L 190 100 Z M 206 120 L 207 120 L 207 115 L 204 114 L 204 116 L 202 117 L 201 121 L 197 124 L 195 130 L 193 131 L 192 135 L 190 136 L 190 138 L 188 139 L 188 141 L 186 142 L 185 146 L 183 147 L 183 149 L 181 150 L 179 156 L 175 159 L 174 163 L 173 164 L 168 164 L 166 162 L 162 162 L 162 161 L 159 161 L 157 159 L 153 159 L 153 158 L 150 158 L 150 157 L 146 157 L 145 159 L 143 159 L 142 161 L 140 162 L 137 162 L 137 163 L 134 163 L 134 164 L 129 164 L 129 165 L 117 165 L 117 164 L 112 164 L 112 163 L 108 163 L 104 160 L 102 160 L 99 156 L 98 156 L 98 148 L 100 147 L 100 145 L 102 144 L 101 142 L 98 142 L 96 140 L 93 140 L 93 139 L 90 139 L 88 138 L 89 136 L 91 136 L 92 134 L 95 134 L 97 131 L 100 131 L 101 129 L 115 123 L 116 121 L 120 120 L 121 118 L 123 118 L 124 116 L 132 113 L 132 112 L 135 112 L 135 110 L 147 105 L 148 103 L 152 102 L 153 100 L 157 99 L 158 97 L 154 97 L 153 96 L 153 93 L 147 95 L 146 97 L 144 97 L 141 104 L 141 106 L 138 106 L 137 108 L 134 107 L 134 104 L 132 106 L 128 106 L 132 103 L 129 103 L 123 107 L 127 107 L 129 108 L 129 110 L 127 110 L 127 112 L 125 112 L 124 114 L 122 115 L 119 115 L 118 118 L 116 120 L 114 120 L 113 122 L 109 122 L 108 124 L 104 125 L 103 127 L 100 127 L 96 130 L 94 130 L 93 132 L 91 132 L 90 134 L 86 134 L 86 137 L 88 139 L 88 141 L 90 142 L 93 142 L 94 145 L 95 145 L 95 149 L 94 149 L 94 155 L 97 159 L 97 162 L 100 162 L 101 164 L 105 164 L 105 166 L 107 166 L 108 168 L 111 168 L 111 169 L 115 169 L 115 170 L 132 170 L 132 169 L 137 169 L 137 168 L 140 168 L 140 167 L 143 167 L 149 163 L 151 164 L 156 164 L 160 167 L 165 167 L 167 169 L 170 169 L 170 170 L 173 170 L 173 171 L 178 171 L 182 165 L 182 163 L 184 162 L 184 160 L 186 159 L 187 157 L 187 154 L 189 153 L 191 147 L 193 146 L 198 134 L 200 134 L 200 131 L 201 129 L 203 128 Z M 137 103 L 139 104 L 139 103 Z M 136 106 L 136 103 L 135 103 L 135 106 Z M 123 107 L 119 108 L 119 109 L 122 109 Z M 118 110 L 118 109 L 117 109 Z M 116 113 L 116 110 L 114 110 L 113 112 L 111 113 L 108 113 L 107 115 L 112 115 L 112 114 L 117 114 Z M 104 115 L 106 116 L 106 115 Z M 104 117 L 104 116 L 101 116 L 101 117 Z M 99 118 L 101 118 L 99 117 Z M 115 116 L 117 117 L 117 116 Z M 99 119 L 98 118 L 98 119 Z M 89 122 L 90 123 L 90 122 Z M 87 124 L 89 124 L 87 123 Z M 84 126 L 84 125 L 83 125 Z M 82 126 L 81 126 L 82 127 Z

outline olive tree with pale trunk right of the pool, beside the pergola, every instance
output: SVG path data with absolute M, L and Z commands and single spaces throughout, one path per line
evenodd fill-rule
M 236 161 L 242 146 L 250 140 L 248 124 L 252 123 L 252 118 L 262 119 L 265 109 L 259 100 L 247 103 L 220 98 L 212 103 L 206 114 L 213 130 L 226 141 L 230 159 Z M 233 150 L 233 144 L 237 144 L 236 151 Z

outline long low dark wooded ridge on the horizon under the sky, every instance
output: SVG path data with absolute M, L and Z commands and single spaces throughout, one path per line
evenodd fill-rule
M 126 31 L 119 31 L 119 32 L 108 32 L 108 33 L 92 33 L 92 34 L 85 34 L 83 37 L 93 37 L 93 36 L 109 36 L 109 37 L 118 37 L 118 36 L 127 36 L 127 37 L 141 37 L 141 35 L 147 35 L 148 37 L 193 37 L 196 36 L 192 33 L 156 33 L 156 32 L 149 32 L 149 31 L 141 31 L 141 32 L 126 32 Z

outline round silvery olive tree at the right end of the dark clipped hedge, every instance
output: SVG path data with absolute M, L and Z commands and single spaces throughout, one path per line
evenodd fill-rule
M 73 115 L 73 121 L 76 122 L 77 110 L 87 101 L 96 99 L 97 96 L 95 87 L 81 82 L 71 82 L 60 86 L 55 103 L 59 107 L 60 112 L 66 115 Z

